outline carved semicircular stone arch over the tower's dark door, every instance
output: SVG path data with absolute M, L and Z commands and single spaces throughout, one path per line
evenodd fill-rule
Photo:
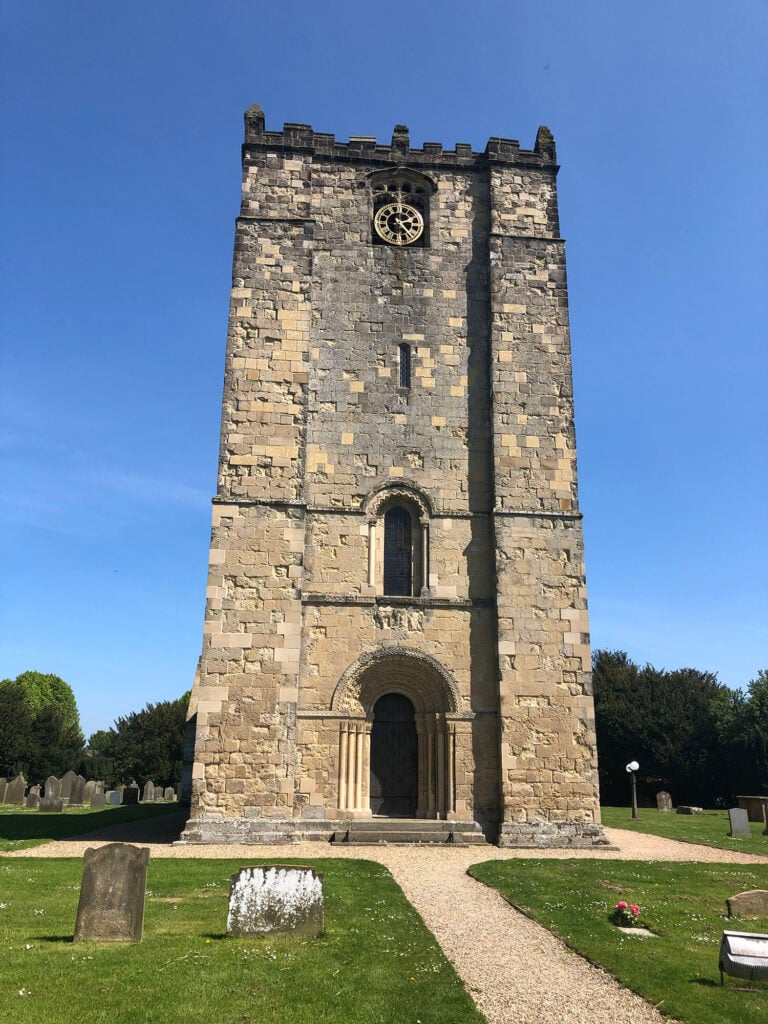
M 370 718 L 384 693 L 401 693 L 417 714 L 459 714 L 462 697 L 451 673 L 424 651 L 412 647 L 378 647 L 361 654 L 336 685 L 331 710 Z

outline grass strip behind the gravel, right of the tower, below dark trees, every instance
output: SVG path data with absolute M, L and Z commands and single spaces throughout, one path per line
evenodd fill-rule
M 676 814 L 674 811 L 657 811 L 655 808 L 641 807 L 636 820 L 632 820 L 629 807 L 602 807 L 602 821 L 609 828 L 626 828 L 628 831 L 650 833 L 666 839 L 677 839 L 683 843 L 700 843 L 719 850 L 739 850 L 741 853 L 761 853 L 768 857 L 768 836 L 763 836 L 763 824 L 750 822 L 752 836 L 731 839 L 728 835 L 730 823 L 728 812 L 723 810 L 705 811 L 703 814 Z

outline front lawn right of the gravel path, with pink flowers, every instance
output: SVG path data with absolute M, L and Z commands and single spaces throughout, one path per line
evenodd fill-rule
M 725 916 L 726 897 L 768 889 L 768 864 L 509 860 L 476 864 L 470 873 L 664 1014 L 685 1024 L 768 1021 L 768 983 L 730 978 L 721 988 L 718 971 L 724 930 L 768 932 L 768 918 Z M 640 905 L 640 921 L 655 937 L 624 935 L 610 924 L 622 899 Z M 750 990 L 737 990 L 743 987 Z

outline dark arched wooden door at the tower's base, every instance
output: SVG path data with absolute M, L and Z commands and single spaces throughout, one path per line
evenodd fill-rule
M 414 706 L 401 693 L 385 693 L 374 706 L 371 727 L 371 812 L 413 818 L 419 788 Z

